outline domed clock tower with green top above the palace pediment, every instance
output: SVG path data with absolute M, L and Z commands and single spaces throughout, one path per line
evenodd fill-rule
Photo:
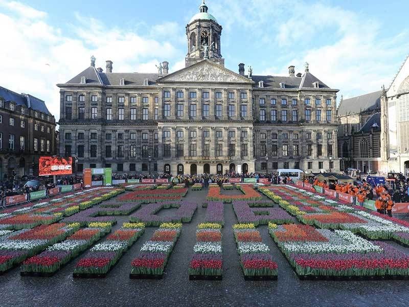
M 224 66 L 221 57 L 220 36 L 222 27 L 216 18 L 209 14 L 209 8 L 203 0 L 199 13 L 194 15 L 186 26 L 188 53 L 186 67 L 204 59 L 210 59 Z

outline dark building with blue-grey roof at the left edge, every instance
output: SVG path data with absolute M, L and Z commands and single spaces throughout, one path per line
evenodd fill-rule
M 44 101 L 0 86 L 0 180 L 38 174 L 38 158 L 56 154 L 55 119 Z

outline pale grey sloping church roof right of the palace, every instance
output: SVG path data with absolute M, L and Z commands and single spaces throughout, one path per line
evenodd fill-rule
M 380 108 L 380 95 L 382 91 L 344 99 L 338 107 L 338 116 L 359 114 Z

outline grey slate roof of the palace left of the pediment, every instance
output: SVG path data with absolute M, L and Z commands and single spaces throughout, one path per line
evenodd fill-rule
M 149 85 L 154 85 L 158 75 L 157 73 L 98 73 L 95 67 L 90 66 L 65 84 L 80 84 L 81 77 L 85 77 L 86 84 L 120 85 L 120 80 L 124 78 L 125 85 L 144 85 L 144 79 L 148 79 Z

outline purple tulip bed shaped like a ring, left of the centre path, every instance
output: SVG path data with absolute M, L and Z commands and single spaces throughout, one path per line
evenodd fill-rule
M 178 208 L 178 210 L 169 216 L 156 215 L 162 209 Z M 192 220 L 193 214 L 197 208 L 196 203 L 190 202 L 167 202 L 148 204 L 130 216 L 130 222 L 145 223 L 146 226 L 158 226 L 164 222 L 172 223 L 189 223 Z

